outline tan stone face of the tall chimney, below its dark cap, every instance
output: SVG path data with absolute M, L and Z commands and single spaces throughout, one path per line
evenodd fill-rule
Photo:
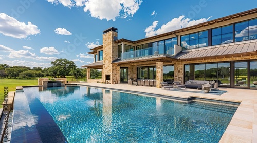
M 106 76 L 110 75 L 110 82 L 116 81 L 119 75 L 117 71 L 117 65 L 112 65 L 112 61 L 118 57 L 117 43 L 114 42 L 114 36 L 118 36 L 117 32 L 110 31 L 103 34 L 103 69 L 102 69 L 102 79 L 105 81 Z

